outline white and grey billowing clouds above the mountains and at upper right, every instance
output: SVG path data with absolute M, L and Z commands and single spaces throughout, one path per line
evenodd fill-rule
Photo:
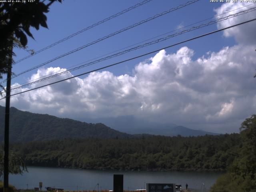
M 221 14 L 236 6 L 223 4 L 215 12 Z M 227 20 L 218 28 L 247 20 L 253 14 Z M 196 60 L 192 59 L 194 50 L 186 46 L 174 53 L 161 50 L 137 64 L 132 75 L 93 72 L 84 78 L 13 96 L 11 105 L 70 118 L 134 115 L 212 132 L 237 132 L 240 123 L 256 109 L 255 30 L 255 24 L 248 24 L 225 31 L 224 36 L 234 37 L 238 45 L 207 52 Z M 40 68 L 31 80 L 58 70 Z M 70 76 L 66 73 L 54 81 Z M 43 84 L 49 82 L 52 80 Z M 40 84 L 30 88 L 35 86 Z M 4 106 L 4 100 L 0 105 Z

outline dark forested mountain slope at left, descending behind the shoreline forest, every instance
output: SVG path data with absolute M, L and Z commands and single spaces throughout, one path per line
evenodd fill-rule
M 4 140 L 4 112 L 5 108 L 0 106 L 0 142 Z M 88 137 L 127 138 L 133 136 L 111 129 L 102 123 L 88 124 L 68 118 L 10 108 L 11 142 Z

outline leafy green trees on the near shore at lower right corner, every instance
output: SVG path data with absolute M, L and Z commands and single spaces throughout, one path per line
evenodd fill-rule
M 212 187 L 212 192 L 256 192 L 256 115 L 241 125 L 242 148 L 228 172 Z

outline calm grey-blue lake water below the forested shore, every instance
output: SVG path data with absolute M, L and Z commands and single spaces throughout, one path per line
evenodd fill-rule
M 203 186 L 209 189 L 222 173 L 79 170 L 29 166 L 28 173 L 10 175 L 9 182 L 18 189 L 39 187 L 39 182 L 42 182 L 42 190 L 49 186 L 64 190 L 97 191 L 99 186 L 99 190 L 112 190 L 113 174 L 124 174 L 124 190 L 141 189 L 146 183 L 176 183 L 185 188 L 188 183 L 188 188 L 200 191 Z

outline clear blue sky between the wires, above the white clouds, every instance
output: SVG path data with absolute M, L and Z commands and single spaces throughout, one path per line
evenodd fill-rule
M 109 2 L 74 0 L 64 1 L 62 4 L 55 3 L 50 8 L 50 12 L 47 14 L 49 30 L 44 28 L 41 28 L 38 31 L 32 30 L 35 40 L 30 39 L 28 47 L 33 50 L 39 50 L 41 48 L 44 48 L 45 46 L 52 44 L 52 42 L 56 42 L 57 40 L 65 38 L 66 36 L 69 36 L 74 32 L 86 28 L 87 26 L 90 26 L 104 18 L 107 18 L 108 16 L 111 16 L 139 2 L 141 1 L 113 0 Z M 100 26 L 96 26 L 95 28 L 83 32 L 82 34 L 79 34 L 78 36 L 71 38 L 66 42 L 58 44 L 54 48 L 49 49 L 43 52 L 42 54 L 38 54 L 37 56 L 34 56 L 31 59 L 27 59 L 26 61 L 18 64 L 17 66 L 14 66 L 13 71 L 19 73 L 23 71 L 24 68 L 30 68 L 34 65 L 41 64 L 65 52 L 73 50 L 84 44 L 97 40 L 98 38 L 106 36 L 112 32 L 125 28 L 126 26 L 130 26 L 136 22 L 139 22 L 158 13 L 164 12 L 165 10 L 169 10 L 170 8 L 179 6 L 180 4 L 184 4 L 186 2 L 187 1 L 185 0 L 153 0 L 152 2 L 144 4 L 143 6 L 140 6 L 128 13 L 119 16 L 118 18 L 114 18 Z M 118 50 L 120 48 L 124 48 L 126 46 L 130 46 L 138 42 L 147 40 L 149 38 L 153 38 L 155 36 L 170 32 L 172 30 L 176 30 L 180 25 L 187 26 L 195 22 L 204 20 L 206 18 L 211 18 L 215 14 L 213 11 L 214 8 L 217 8 L 220 5 L 220 3 L 209 3 L 208 1 L 200 0 L 198 2 L 195 2 L 194 4 L 181 8 L 180 10 L 168 13 L 164 16 L 161 16 L 160 18 L 156 18 L 150 22 L 137 26 L 136 28 L 130 29 L 126 32 L 113 36 L 88 48 L 80 50 L 79 52 L 76 52 L 70 56 L 66 56 L 62 59 L 59 59 L 56 62 L 52 62 L 51 64 L 48 64 L 46 67 L 59 66 L 66 68 L 74 64 L 78 64 L 80 62 L 84 62 L 86 60 L 90 60 L 92 58 Z M 209 21 L 210 20 L 207 20 L 205 22 Z M 175 38 L 167 40 L 166 42 L 162 42 L 157 45 L 144 48 L 142 50 L 137 50 L 136 52 L 127 54 L 125 56 L 118 57 L 115 60 L 112 60 L 112 62 L 120 61 L 125 58 L 130 58 L 132 56 L 136 56 L 151 50 L 168 46 L 170 44 L 194 37 L 198 34 L 203 34 L 216 29 L 216 25 L 212 25 L 207 28 L 202 28 L 194 32 L 183 34 L 181 36 L 177 36 Z M 175 32 L 172 32 L 170 34 L 173 33 Z M 218 44 L 216 44 L 216 39 L 218 39 Z M 223 38 L 222 34 L 219 33 L 212 36 L 208 36 L 206 38 L 198 39 L 194 42 L 189 42 L 186 44 L 186 46 L 189 46 L 190 48 L 196 50 L 194 58 L 197 58 L 199 56 L 204 55 L 206 51 L 217 51 L 223 46 L 232 44 L 234 44 L 234 40 L 232 38 Z M 178 48 L 181 48 L 182 46 L 184 45 L 176 46 L 172 49 L 169 49 L 168 51 L 176 51 L 178 50 Z M 17 60 L 27 55 L 27 53 L 24 51 L 16 51 L 16 53 Z M 152 54 L 151 56 L 153 55 L 154 54 Z M 146 58 L 149 57 L 145 56 L 142 59 L 122 64 L 120 66 L 110 68 L 109 70 L 116 75 L 127 73 L 130 72 L 132 68 L 134 68 L 138 61 L 141 61 Z M 106 64 L 112 62 L 106 62 Z M 97 68 L 98 66 L 102 66 L 102 64 L 95 66 Z M 93 67 L 93 69 L 94 68 L 95 67 Z M 84 70 L 87 69 L 85 68 Z M 80 72 L 81 71 L 79 71 L 78 74 Z M 26 75 L 19 78 L 19 80 L 17 81 L 26 81 L 26 78 L 30 77 L 32 73 L 27 73 Z

